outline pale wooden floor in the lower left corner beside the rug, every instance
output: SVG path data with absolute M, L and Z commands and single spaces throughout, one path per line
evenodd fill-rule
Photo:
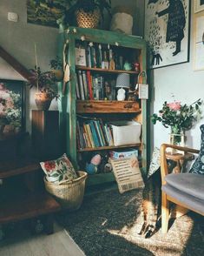
M 69 233 L 55 224 L 51 235 L 16 230 L 0 241 L 0 256 L 84 256 Z

